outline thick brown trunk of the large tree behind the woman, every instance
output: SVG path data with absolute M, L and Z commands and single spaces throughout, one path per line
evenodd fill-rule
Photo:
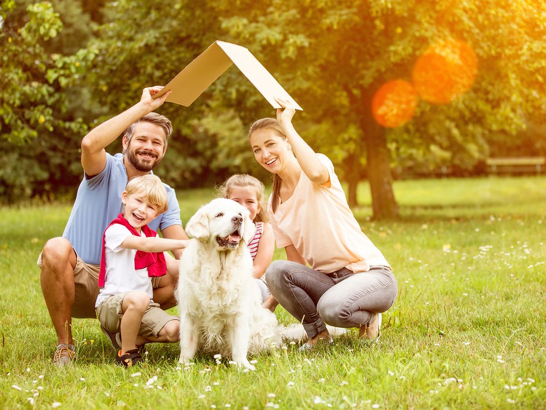
M 360 125 L 363 128 L 366 143 L 367 174 L 372 194 L 373 218 L 397 218 L 398 204 L 394 198 L 393 175 L 390 171 L 390 154 L 385 128 L 373 119 L 371 110 L 370 115 L 363 116 Z

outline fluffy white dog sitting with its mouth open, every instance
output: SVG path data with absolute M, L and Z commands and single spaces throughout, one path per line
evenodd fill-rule
M 231 355 L 239 366 L 254 370 L 247 354 L 281 342 L 282 328 L 262 307 L 252 280 L 246 244 L 255 227 L 248 215 L 235 201 L 218 198 L 201 207 L 186 225 L 195 239 L 180 260 L 181 363 L 200 350 Z M 300 337 L 302 333 L 301 329 Z

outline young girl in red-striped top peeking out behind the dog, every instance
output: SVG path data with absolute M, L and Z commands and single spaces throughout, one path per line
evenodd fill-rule
M 265 283 L 265 270 L 273 259 L 275 238 L 271 225 L 268 223 L 264 203 L 264 184 L 247 174 L 235 174 L 228 178 L 218 189 L 219 194 L 238 202 L 250 211 L 250 219 L 256 224 L 256 234 L 248 243 L 250 254 L 254 260 L 254 279 L 256 280 L 264 307 L 275 310 L 277 303 L 270 297 L 271 292 Z

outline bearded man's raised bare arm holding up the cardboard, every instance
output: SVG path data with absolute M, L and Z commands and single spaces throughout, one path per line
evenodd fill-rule
M 106 151 L 104 148 L 114 142 L 133 122 L 161 107 L 165 99 L 169 96 L 170 91 L 159 98 L 153 99 L 152 97 L 161 91 L 162 88 L 159 85 L 145 88 L 138 103 L 93 128 L 81 140 L 81 165 L 84 167 L 86 175 L 93 177 L 102 172 L 106 165 Z

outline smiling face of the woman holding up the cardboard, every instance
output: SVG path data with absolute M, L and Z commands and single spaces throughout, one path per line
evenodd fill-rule
M 250 145 L 256 161 L 269 172 L 278 174 L 287 161 L 290 143 L 286 138 L 278 136 L 272 128 L 262 128 L 250 136 Z

